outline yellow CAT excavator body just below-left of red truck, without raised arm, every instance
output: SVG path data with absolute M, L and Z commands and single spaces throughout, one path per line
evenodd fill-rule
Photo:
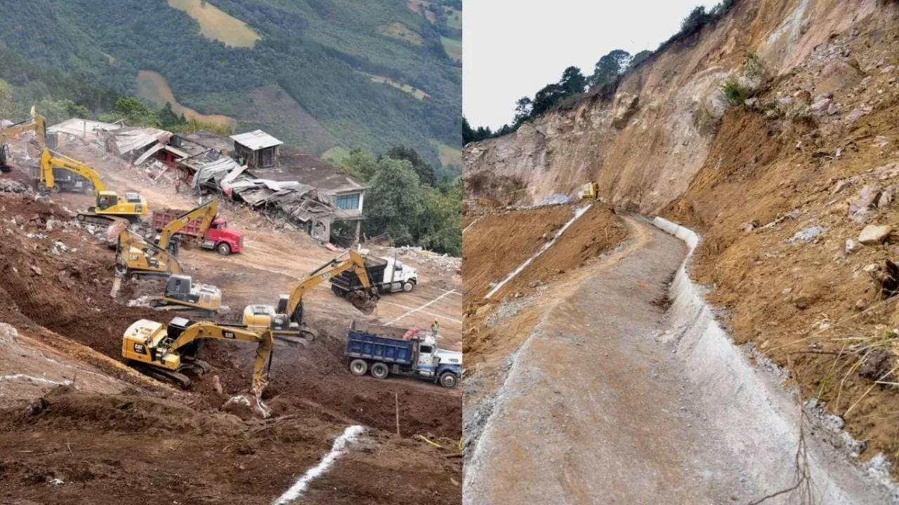
M 116 277 L 136 280 L 182 273 L 181 263 L 174 254 L 130 232 L 128 226 L 125 219 L 113 219 L 106 230 L 107 242 L 116 245 Z

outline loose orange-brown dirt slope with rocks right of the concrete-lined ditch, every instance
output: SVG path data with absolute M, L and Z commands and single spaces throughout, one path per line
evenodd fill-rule
M 863 192 L 877 197 L 895 187 L 899 88 L 888 69 L 899 63 L 897 37 L 894 20 L 834 36 L 822 48 L 851 53 L 868 76 L 833 92 L 842 114 L 790 121 L 730 111 L 690 190 L 662 213 L 703 235 L 690 275 L 712 288 L 709 302 L 726 307 L 734 340 L 754 342 L 788 368 L 790 384 L 867 442 L 862 459 L 883 452 L 894 476 L 899 313 L 865 268 L 895 261 L 899 246 L 895 235 L 860 245 L 859 234 L 867 225 L 895 226 L 899 210 L 889 199 L 862 202 L 858 213 L 851 206 Z M 821 84 L 822 73 L 812 60 L 761 102 Z M 868 112 L 852 120 L 850 111 Z M 747 227 L 753 221 L 757 227 Z M 813 240 L 788 242 L 813 226 L 822 227 Z M 855 243 L 849 252 L 847 240 Z

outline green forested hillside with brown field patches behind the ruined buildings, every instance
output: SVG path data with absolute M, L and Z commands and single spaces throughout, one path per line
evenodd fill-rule
M 0 16 L 0 58 L 16 65 L 0 65 L 0 79 L 12 84 L 17 107 L 52 99 L 108 111 L 115 94 L 135 95 L 156 110 L 173 102 L 176 113 L 263 128 L 325 157 L 413 146 L 452 177 L 458 167 L 443 166 L 441 151 L 461 146 L 459 7 L 421 0 L 13 2 Z

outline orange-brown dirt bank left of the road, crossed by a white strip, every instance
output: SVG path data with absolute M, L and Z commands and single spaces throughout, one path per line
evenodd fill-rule
M 469 228 L 463 244 L 464 350 L 468 367 L 486 370 L 502 362 L 530 333 L 534 320 L 528 317 L 533 312 L 528 307 L 536 303 L 534 297 L 540 297 L 547 286 L 563 279 L 565 272 L 609 252 L 628 235 L 610 207 L 594 204 L 545 253 L 531 261 L 494 297 L 484 299 L 492 282 L 504 279 L 537 253 L 546 242 L 543 237 L 555 236 L 574 217 L 574 210 L 584 205 L 503 210 L 482 217 Z M 510 239 L 497 240 L 501 236 Z M 497 315 L 501 306 L 507 308 Z

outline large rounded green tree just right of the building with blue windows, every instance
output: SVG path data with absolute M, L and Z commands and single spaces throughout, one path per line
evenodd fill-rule
M 366 193 L 365 227 L 369 235 L 390 234 L 397 245 L 414 244 L 424 209 L 423 190 L 412 164 L 383 158 Z

